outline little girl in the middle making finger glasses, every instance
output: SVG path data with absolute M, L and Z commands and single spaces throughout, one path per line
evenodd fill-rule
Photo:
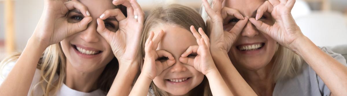
M 130 95 L 232 96 L 213 63 L 205 29 L 191 8 L 170 4 L 153 9 L 142 35 L 142 71 Z

